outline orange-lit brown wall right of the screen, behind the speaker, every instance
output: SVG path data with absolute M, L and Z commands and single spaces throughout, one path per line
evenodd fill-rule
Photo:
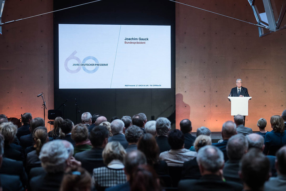
M 255 23 L 248 1 L 181 0 L 180 2 Z M 245 126 L 259 131 L 286 109 L 286 30 L 259 38 L 254 25 L 176 4 L 176 128 L 182 119 L 193 131 L 206 126 L 221 131 L 233 120 L 227 96 L 243 80 L 252 100 Z

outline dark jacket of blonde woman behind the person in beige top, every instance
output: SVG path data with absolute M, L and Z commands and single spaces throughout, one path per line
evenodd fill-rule
M 202 175 L 199 171 L 197 157 L 183 164 L 182 179 L 187 179 L 187 178 L 199 179 L 201 177 Z

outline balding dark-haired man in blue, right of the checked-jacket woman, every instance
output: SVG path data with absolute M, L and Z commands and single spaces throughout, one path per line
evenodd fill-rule
M 127 153 L 124 160 L 124 172 L 126 174 L 127 182 L 121 185 L 107 188 L 106 191 L 130 191 L 130 179 L 132 172 L 138 165 L 146 164 L 145 155 L 138 150 Z

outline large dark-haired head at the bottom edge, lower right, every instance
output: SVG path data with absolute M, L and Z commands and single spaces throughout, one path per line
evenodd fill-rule
M 251 148 L 241 159 L 241 179 L 251 188 L 260 190 L 269 178 L 269 159 L 257 148 Z

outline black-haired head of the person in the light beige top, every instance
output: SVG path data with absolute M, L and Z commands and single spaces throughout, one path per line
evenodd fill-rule
M 170 131 L 168 135 L 168 143 L 171 146 L 171 149 L 181 149 L 184 146 L 185 138 L 182 131 L 179 129 L 174 129 Z

